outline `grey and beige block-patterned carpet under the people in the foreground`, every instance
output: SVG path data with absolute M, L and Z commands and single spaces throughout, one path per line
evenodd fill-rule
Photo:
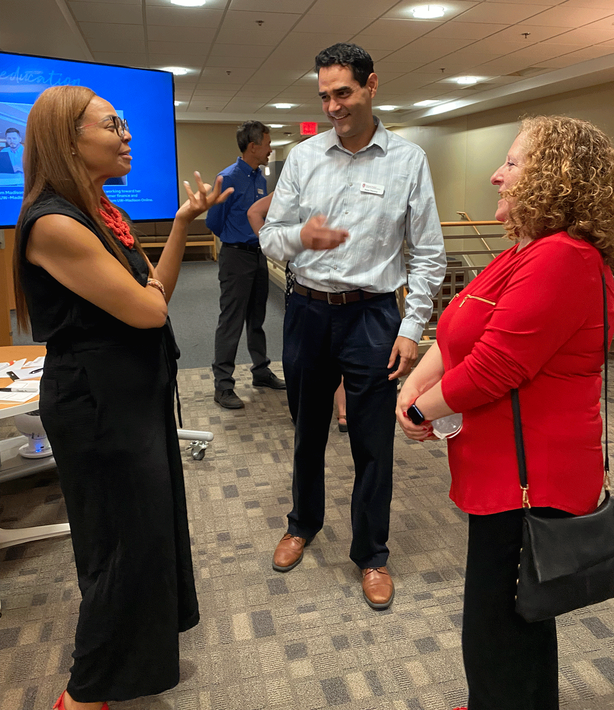
M 281 373 L 280 364 L 273 364 Z M 294 430 L 285 393 L 251 387 L 244 410 L 213 401 L 205 368 L 180 371 L 184 426 L 214 432 L 185 452 L 202 621 L 181 635 L 181 681 L 111 710 L 451 710 L 466 704 L 460 629 L 466 516 L 449 501 L 445 445 L 395 439 L 393 605 L 363 601 L 349 560 L 353 464 L 331 422 L 324 530 L 287 574 L 271 568 L 290 509 Z M 0 420 L 0 437 L 11 435 Z M 66 520 L 54 472 L 0 484 L 0 527 Z M 0 550 L 0 708 L 50 710 L 67 682 L 80 594 L 70 538 Z M 559 619 L 561 707 L 614 708 L 614 603 Z M 495 710 L 495 709 L 493 709 Z

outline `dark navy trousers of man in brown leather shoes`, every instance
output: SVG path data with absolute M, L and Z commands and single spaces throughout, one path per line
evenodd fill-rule
M 400 315 L 394 294 L 329 305 L 292 293 L 284 321 L 283 370 L 296 422 L 288 532 L 311 538 L 324 524 L 324 452 L 341 376 L 356 477 L 350 557 L 362 569 L 388 559 L 396 381 L 388 381 Z

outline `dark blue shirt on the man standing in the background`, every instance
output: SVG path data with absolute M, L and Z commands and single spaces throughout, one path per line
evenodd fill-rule
M 234 192 L 222 204 L 214 204 L 207 212 L 207 226 L 219 236 L 221 241 L 236 244 L 258 244 L 258 235 L 254 234 L 247 221 L 247 211 L 256 200 L 265 197 L 266 180 L 260 168 L 253 170 L 239 156 L 236 163 L 219 173 L 224 178 L 221 190 L 234 187 Z

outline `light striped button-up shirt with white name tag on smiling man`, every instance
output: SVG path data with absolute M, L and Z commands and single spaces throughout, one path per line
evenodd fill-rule
M 424 151 L 375 123 L 373 138 L 357 153 L 341 145 L 334 129 L 292 148 L 260 244 L 267 256 L 290 261 L 307 288 L 390 293 L 407 284 L 399 335 L 417 342 L 444 279 L 444 239 Z M 349 239 L 336 249 L 305 249 L 300 231 L 316 214 L 347 229 Z

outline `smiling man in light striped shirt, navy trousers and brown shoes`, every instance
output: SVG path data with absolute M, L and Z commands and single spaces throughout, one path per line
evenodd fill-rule
M 387 608 L 396 380 L 417 358 L 446 256 L 424 151 L 373 116 L 371 57 L 337 44 L 317 55 L 316 70 L 333 129 L 292 148 L 260 231 L 263 252 L 290 261 L 296 275 L 283 349 L 296 422 L 294 506 L 273 568 L 296 567 L 324 524 L 324 452 L 343 375 L 356 471 L 350 557 L 367 603 Z M 401 320 L 395 290 L 404 284 Z

